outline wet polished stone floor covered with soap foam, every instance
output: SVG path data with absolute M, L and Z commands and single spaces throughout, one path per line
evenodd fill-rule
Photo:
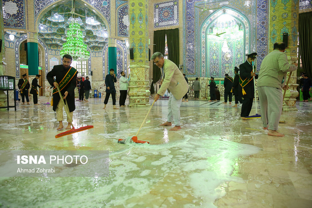
M 283 112 L 285 137 L 276 138 L 261 119 L 243 121 L 240 108 L 206 101 L 183 102 L 182 129 L 169 131 L 158 126 L 168 101 L 158 100 L 138 135 L 150 144 L 141 145 L 117 140 L 134 136 L 149 108 L 113 110 L 110 101 L 102 109 L 104 99 L 89 101 L 77 101 L 74 124 L 94 128 L 61 138 L 55 135 L 65 130 L 56 131 L 44 97 L 41 105 L 1 111 L 0 150 L 108 150 L 108 176 L 0 177 L 1 208 L 312 205 L 312 102 Z

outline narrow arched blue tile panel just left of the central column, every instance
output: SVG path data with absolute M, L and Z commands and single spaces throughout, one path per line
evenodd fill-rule
M 128 4 L 120 7 L 117 11 L 117 35 L 122 37 L 129 36 L 128 23 L 129 23 L 129 15 L 128 15 Z

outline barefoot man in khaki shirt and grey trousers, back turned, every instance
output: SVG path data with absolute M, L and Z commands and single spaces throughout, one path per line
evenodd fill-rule
M 274 43 L 273 51 L 262 61 L 257 82 L 263 129 L 269 130 L 268 135 L 277 137 L 284 136 L 277 131 L 283 107 L 282 88 L 287 90 L 287 72 L 297 69 L 297 63 L 288 63 L 285 46 L 283 42 Z

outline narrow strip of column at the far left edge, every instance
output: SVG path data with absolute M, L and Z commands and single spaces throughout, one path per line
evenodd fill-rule
M 2 0 L 0 0 L 0 4 L 2 5 Z M 5 66 L 3 65 L 2 58 L 5 56 L 5 50 L 4 50 L 4 30 L 3 30 L 3 11 L 0 12 L 0 36 L 2 42 L 2 48 L 0 52 L 0 76 L 5 75 Z M 0 90 L 0 106 L 7 106 L 7 95 L 4 93 L 4 91 Z M 0 109 L 2 111 L 7 110 L 5 108 Z

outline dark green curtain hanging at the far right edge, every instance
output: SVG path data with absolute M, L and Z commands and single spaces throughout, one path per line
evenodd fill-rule
M 299 50 L 302 70 L 312 78 L 312 12 L 299 14 Z

